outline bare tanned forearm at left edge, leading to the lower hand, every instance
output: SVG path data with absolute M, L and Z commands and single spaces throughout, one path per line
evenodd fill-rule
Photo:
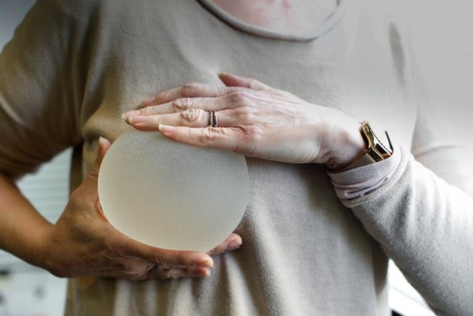
M 12 179 L 1 174 L 0 201 L 0 248 L 42 266 L 42 249 L 51 223 L 29 204 Z

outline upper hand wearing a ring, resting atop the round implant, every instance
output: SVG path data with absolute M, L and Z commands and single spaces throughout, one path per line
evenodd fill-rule
M 340 169 L 364 152 L 360 124 L 254 79 L 220 74 L 227 87 L 190 84 L 163 91 L 123 118 L 135 129 L 194 146 Z M 215 111 L 218 127 L 209 127 Z

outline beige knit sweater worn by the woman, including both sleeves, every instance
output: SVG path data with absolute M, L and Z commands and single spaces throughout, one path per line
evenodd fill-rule
M 215 256 L 212 277 L 71 279 L 68 315 L 386 315 L 388 256 L 436 312 L 473 312 L 473 200 L 453 187 L 473 192 L 470 174 L 421 106 L 405 38 L 372 3 L 344 4 L 301 40 L 193 0 L 38 1 L 0 57 L 2 172 L 74 146 L 77 185 L 97 138 L 127 129 L 120 113 L 190 81 L 221 84 L 220 71 L 376 120 L 403 148 L 385 185 L 343 204 L 323 166 L 249 158 L 244 245 Z

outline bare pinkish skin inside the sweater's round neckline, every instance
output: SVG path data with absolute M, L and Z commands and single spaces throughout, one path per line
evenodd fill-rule
M 240 21 L 264 29 L 303 31 L 336 11 L 336 0 L 212 0 Z

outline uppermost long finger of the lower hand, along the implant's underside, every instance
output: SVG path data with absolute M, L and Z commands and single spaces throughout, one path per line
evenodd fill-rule
M 137 242 L 124 235 L 119 245 L 122 254 L 136 256 L 149 262 L 154 262 L 156 265 L 163 265 L 168 268 L 192 266 L 213 267 L 212 257 L 208 254 L 157 248 Z

